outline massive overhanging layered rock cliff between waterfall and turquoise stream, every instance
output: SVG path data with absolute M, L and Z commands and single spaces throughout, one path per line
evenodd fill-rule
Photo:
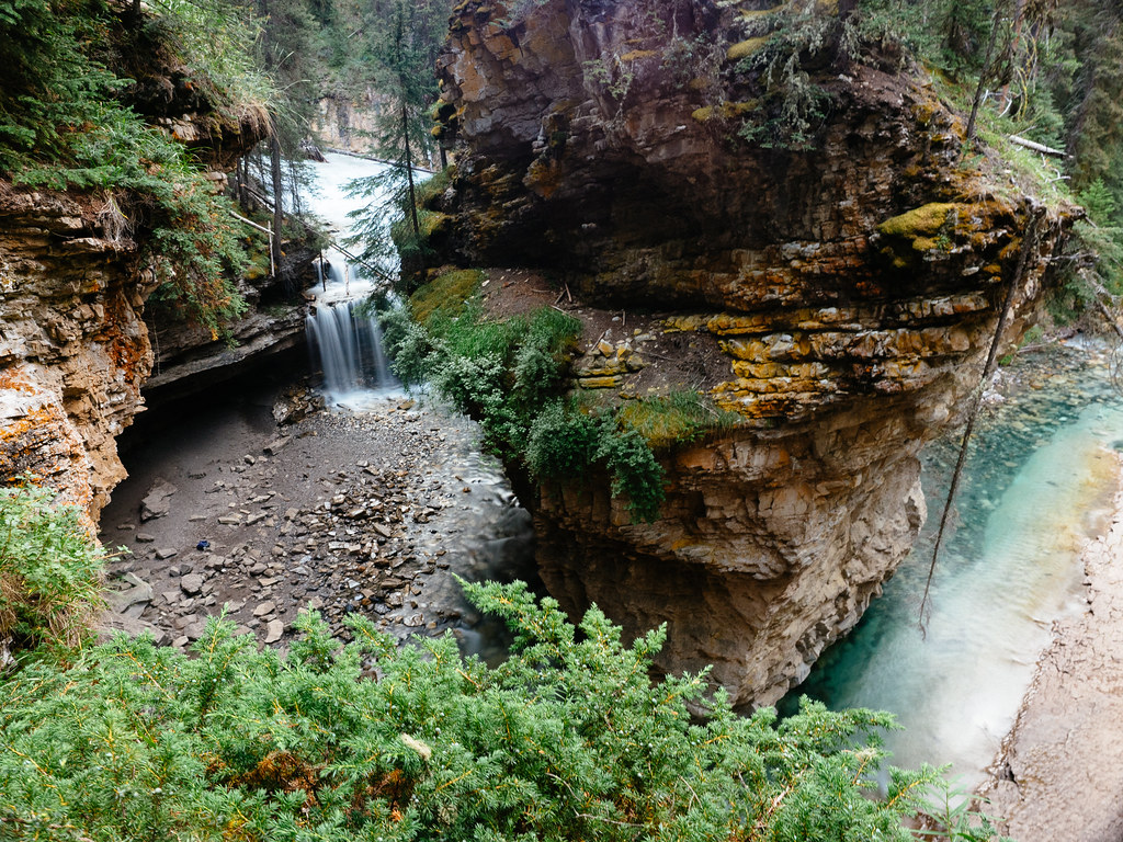
M 761 6 L 462 3 L 440 115 L 466 149 L 431 205 L 444 257 L 567 284 L 594 400 L 702 388 L 742 417 L 664 454 L 655 523 L 599 477 L 531 505 L 564 604 L 667 622 L 663 666 L 713 663 L 743 705 L 801 680 L 907 552 L 917 452 L 962 413 L 1020 258 L 1007 344 L 1067 227 L 958 165 L 932 90 L 852 61 L 846 4 Z

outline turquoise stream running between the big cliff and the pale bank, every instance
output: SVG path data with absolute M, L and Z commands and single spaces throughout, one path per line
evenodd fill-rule
M 1053 620 L 1083 606 L 1080 549 L 1105 531 L 1123 441 L 1123 399 L 1102 357 L 1058 351 L 1014 372 L 1037 387 L 976 431 L 926 637 L 917 612 L 958 437 L 928 448 L 929 524 L 916 549 L 793 694 L 896 714 L 905 730 L 886 738 L 893 762 L 951 763 L 967 786 L 1013 724 Z

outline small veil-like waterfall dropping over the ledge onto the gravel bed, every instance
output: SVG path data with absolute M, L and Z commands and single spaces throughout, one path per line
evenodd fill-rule
M 357 309 L 354 301 L 319 302 L 305 322 L 313 359 L 323 369 L 323 388 L 336 403 L 355 392 L 399 385 L 382 350 L 377 319 L 359 315 Z

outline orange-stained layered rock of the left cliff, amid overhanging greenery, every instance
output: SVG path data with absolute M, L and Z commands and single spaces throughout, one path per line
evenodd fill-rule
M 221 183 L 266 122 L 219 117 L 186 71 L 147 61 L 134 74 L 138 112 Z M 148 232 L 126 222 L 118 201 L 0 181 L 0 479 L 30 472 L 91 524 L 125 478 L 116 437 L 143 409 L 154 359 L 141 318 L 156 286 L 141 259 Z

